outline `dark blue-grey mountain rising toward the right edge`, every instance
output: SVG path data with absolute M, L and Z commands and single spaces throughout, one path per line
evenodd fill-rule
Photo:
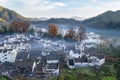
M 100 29 L 120 29 L 120 10 L 115 12 L 107 11 L 96 17 L 84 20 L 83 24 Z

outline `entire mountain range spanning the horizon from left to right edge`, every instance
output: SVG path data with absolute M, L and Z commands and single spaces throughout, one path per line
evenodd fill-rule
M 83 17 L 74 16 L 72 18 L 26 18 L 13 10 L 9 10 L 0 6 L 0 25 L 8 24 L 12 21 L 29 21 L 38 27 L 48 26 L 50 23 L 57 25 L 66 25 L 69 27 L 88 26 L 98 29 L 120 29 L 120 11 L 107 11 L 96 17 L 85 19 Z

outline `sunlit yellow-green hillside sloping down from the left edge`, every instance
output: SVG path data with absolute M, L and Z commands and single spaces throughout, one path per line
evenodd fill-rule
M 20 14 L 16 13 L 15 11 L 9 10 L 2 6 L 0 6 L 0 19 L 2 21 L 8 21 L 8 22 L 27 20 L 27 18 L 21 16 Z

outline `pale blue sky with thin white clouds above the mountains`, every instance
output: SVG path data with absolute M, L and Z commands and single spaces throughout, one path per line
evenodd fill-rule
M 24 17 L 89 18 L 107 10 L 120 10 L 120 0 L 0 0 L 0 6 Z

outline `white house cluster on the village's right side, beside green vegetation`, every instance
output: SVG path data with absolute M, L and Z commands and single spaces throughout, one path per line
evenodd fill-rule
M 74 49 L 69 51 L 67 65 L 69 68 L 101 66 L 105 63 L 105 56 L 94 48 L 100 45 L 102 40 L 95 33 L 87 33 L 81 43 L 76 43 Z

